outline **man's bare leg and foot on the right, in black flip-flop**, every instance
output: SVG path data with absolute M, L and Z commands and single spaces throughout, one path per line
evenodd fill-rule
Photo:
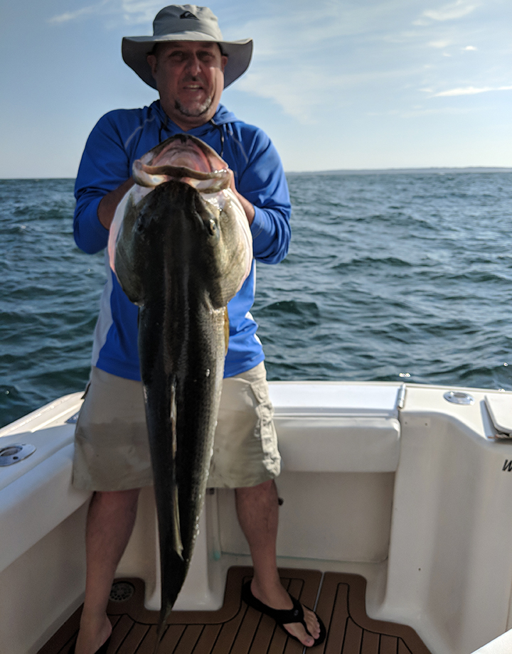
M 252 594 L 272 609 L 292 609 L 292 601 L 277 572 L 279 498 L 275 483 L 270 480 L 252 488 L 237 488 L 235 495 L 238 521 L 249 543 L 254 567 Z M 311 636 L 318 638 L 320 627 L 313 611 L 304 608 L 304 620 Z M 310 647 L 314 644 L 301 623 L 287 624 L 285 628 L 303 645 Z

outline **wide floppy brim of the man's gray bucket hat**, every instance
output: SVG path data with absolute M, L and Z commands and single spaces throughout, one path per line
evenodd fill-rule
M 224 88 L 233 84 L 238 77 L 245 73 L 252 57 L 252 38 L 242 41 L 217 41 L 213 37 L 208 37 L 204 32 L 182 32 L 164 36 L 125 36 L 121 45 L 124 63 L 129 65 L 141 80 L 154 89 L 156 89 L 156 82 L 151 75 L 147 55 L 156 43 L 169 41 L 213 41 L 218 43 L 223 53 L 228 55 L 228 63 L 224 69 Z

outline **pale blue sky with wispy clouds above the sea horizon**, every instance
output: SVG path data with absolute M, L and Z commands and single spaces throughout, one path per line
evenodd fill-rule
M 0 178 L 74 178 L 97 119 L 156 100 L 121 58 L 154 0 L 0 0 Z M 252 63 L 221 102 L 284 169 L 512 167 L 511 0 L 212 0 Z

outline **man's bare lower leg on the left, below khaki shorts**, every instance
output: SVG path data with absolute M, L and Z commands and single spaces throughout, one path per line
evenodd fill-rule
M 87 513 L 85 601 L 75 654 L 95 654 L 112 633 L 107 604 L 117 564 L 132 534 L 139 488 L 97 492 Z

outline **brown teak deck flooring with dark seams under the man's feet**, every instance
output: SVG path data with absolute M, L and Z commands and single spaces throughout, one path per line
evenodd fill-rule
M 314 606 L 321 584 L 316 612 L 326 625 L 327 637 L 311 654 L 430 654 L 412 628 L 368 618 L 363 577 L 326 572 L 322 579 L 321 573 L 314 570 L 279 572 L 289 592 L 305 606 Z M 250 577 L 252 568 L 229 570 L 224 605 L 218 611 L 171 613 L 159 654 L 301 654 L 300 643 L 288 638 L 271 618 L 240 599 L 242 583 Z M 117 581 L 132 584 L 134 594 L 130 599 L 117 598 L 109 603 L 107 612 L 114 628 L 107 654 L 153 654 L 159 614 L 144 609 L 141 580 Z M 70 652 L 80 611 L 81 608 L 75 611 L 38 654 Z

